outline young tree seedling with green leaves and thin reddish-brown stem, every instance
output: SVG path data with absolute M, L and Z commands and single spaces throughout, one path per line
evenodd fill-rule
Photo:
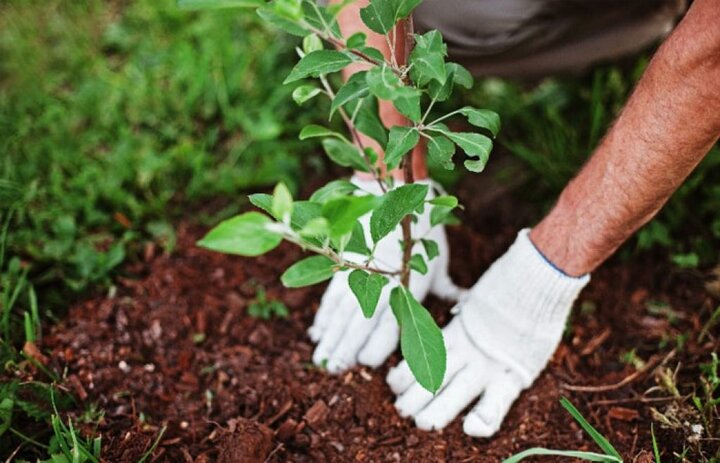
M 288 288 L 312 285 L 330 279 L 337 272 L 350 272 L 350 289 L 366 317 L 372 317 L 380 294 L 390 285 L 390 306 L 400 326 L 403 356 L 418 383 L 431 392 L 442 384 L 446 351 L 440 328 L 430 313 L 408 290 L 411 274 L 427 269 L 425 257 L 414 252 L 423 246 L 429 258 L 436 257 L 437 243 L 412 236 L 411 223 L 417 214 L 430 208 L 432 226 L 453 220 L 458 207 L 454 196 L 428 198 L 429 186 L 414 183 L 409 154 L 421 140 L 428 155 L 446 169 L 454 169 L 456 148 L 467 155 L 464 167 L 481 172 L 493 146 L 492 138 L 500 120 L 492 111 L 462 107 L 444 115 L 434 115 L 438 102 L 446 101 L 457 86 L 470 88 L 473 79 L 459 64 L 448 62 L 447 47 L 436 30 L 414 34 L 411 13 L 420 0 L 372 0 L 360 10 L 365 25 L 385 37 L 390 58 L 368 46 L 366 34 L 344 37 L 337 14 L 350 2 L 319 6 L 314 0 L 185 0 L 189 8 L 253 6 L 268 23 L 302 37 L 297 48 L 300 60 L 285 79 L 297 85 L 293 99 L 305 104 L 311 99 L 330 100 L 330 121 L 342 122 L 343 132 L 320 125 L 306 126 L 300 139 L 321 139 L 327 156 L 335 163 L 367 172 L 379 185 L 381 195 L 358 194 L 358 187 L 346 180 L 335 180 L 310 196 L 294 200 L 284 184 L 272 195 L 254 194 L 252 204 L 264 211 L 246 212 L 213 228 L 198 244 L 202 247 L 242 256 L 258 256 L 289 241 L 314 255 L 288 268 L 281 280 Z M 325 44 L 329 45 L 325 48 Z M 396 58 L 406 50 L 404 62 Z M 365 70 L 353 74 L 339 88 L 329 76 L 354 63 Z M 315 79 L 318 84 L 310 83 Z M 298 85 L 300 84 L 300 85 Z M 392 102 L 407 118 L 406 125 L 386 128 L 378 115 L 378 101 Z M 454 131 L 446 122 L 463 117 L 477 131 Z M 381 146 L 384 156 L 364 146 L 364 134 Z M 402 169 L 404 184 L 393 185 L 383 173 Z M 394 188 L 395 186 L 395 188 Z M 367 192 L 365 192 L 367 193 Z M 370 214 L 368 242 L 359 219 Z M 397 227 L 402 265 L 380 268 L 375 263 L 377 243 Z M 346 259 L 346 253 L 364 256 L 361 262 Z M 387 290 L 387 289 L 386 289 Z

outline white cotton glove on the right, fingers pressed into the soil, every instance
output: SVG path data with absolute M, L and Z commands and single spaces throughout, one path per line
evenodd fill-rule
M 569 277 L 543 257 L 520 231 L 458 304 L 443 329 L 447 370 L 433 396 L 413 378 L 406 362 L 387 376 L 400 415 L 424 430 L 442 429 L 472 401 L 463 429 L 493 435 L 510 406 L 529 387 L 557 348 L 565 321 L 589 275 Z

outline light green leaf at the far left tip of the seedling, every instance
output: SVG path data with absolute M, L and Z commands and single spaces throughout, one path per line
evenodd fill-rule
M 197 244 L 227 254 L 259 256 L 275 249 L 282 241 L 278 233 L 268 230 L 271 222 L 259 212 L 246 212 L 221 222 Z

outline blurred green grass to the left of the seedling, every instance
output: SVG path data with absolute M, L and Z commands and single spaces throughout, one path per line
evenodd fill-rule
M 281 85 L 293 46 L 251 12 L 173 0 L 0 4 L 0 455 L 77 437 L 50 406 L 72 403 L 62 378 L 23 352 L 41 320 L 145 242 L 171 251 L 206 201 L 231 213 L 248 188 L 297 188 L 317 151 L 297 133 L 319 113 Z

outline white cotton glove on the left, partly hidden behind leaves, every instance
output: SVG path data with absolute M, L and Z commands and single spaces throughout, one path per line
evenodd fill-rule
M 359 194 L 382 194 L 374 180 L 353 177 L 351 181 L 362 190 Z M 435 197 L 432 182 L 426 180 L 418 183 L 430 185 L 428 199 Z M 401 185 L 402 182 L 396 184 Z M 412 272 L 410 291 L 418 301 L 422 301 L 429 292 L 444 299 L 458 300 L 465 290 L 455 286 L 448 276 L 449 250 L 445 230 L 441 225 L 431 229 L 430 209 L 431 206 L 426 205 L 424 212 L 418 216 L 417 223 L 412 225 L 412 236 L 437 242 L 440 255 L 428 260 L 421 244 L 413 248 L 413 253 L 420 253 L 425 258 L 428 272 L 425 275 Z M 370 214 L 363 216 L 360 223 L 365 230 L 366 241 L 371 245 Z M 398 226 L 378 243 L 373 265 L 383 270 L 399 270 L 402 265 L 400 241 L 402 230 Z M 356 263 L 366 260 L 365 256 L 352 253 L 345 253 L 344 258 Z M 324 364 L 330 373 L 340 373 L 358 363 L 377 367 L 393 353 L 399 339 L 398 324 L 389 304 L 391 285 L 383 288 L 373 317 L 367 319 L 350 291 L 348 274 L 339 272 L 333 276 L 320 302 L 315 321 L 308 329 L 310 338 L 318 343 L 313 362 L 316 365 Z

